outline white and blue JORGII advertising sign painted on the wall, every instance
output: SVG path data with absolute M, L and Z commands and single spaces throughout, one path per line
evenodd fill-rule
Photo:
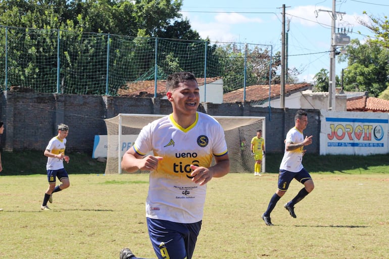
M 320 154 L 366 156 L 389 151 L 388 114 L 326 110 L 320 113 Z

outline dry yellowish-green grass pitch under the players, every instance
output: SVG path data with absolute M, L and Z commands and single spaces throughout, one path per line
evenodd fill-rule
M 260 217 L 277 174 L 213 179 L 193 258 L 388 258 L 389 174 L 368 172 L 312 173 L 316 188 L 296 205 L 297 219 L 283 208 L 302 188 L 294 181 L 271 215 L 275 226 Z M 40 210 L 45 175 L 0 176 L 0 258 L 117 259 L 126 246 L 155 258 L 144 217 L 148 175 L 102 173 L 71 174 L 52 211 Z

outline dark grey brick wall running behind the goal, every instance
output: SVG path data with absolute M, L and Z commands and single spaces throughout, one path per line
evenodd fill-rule
M 295 125 L 296 109 L 252 107 L 250 103 L 202 103 L 200 112 L 213 116 L 266 117 L 266 151 L 283 152 L 286 132 Z M 104 119 L 119 113 L 170 114 L 166 99 L 122 96 L 23 93 L 4 91 L 0 95 L 0 118 L 5 123 L 2 147 L 7 151 L 44 150 L 57 135 L 57 125 L 69 126 L 67 150 L 92 153 L 94 135 L 105 135 Z M 320 113 L 307 110 L 306 135 L 317 141 L 308 152 L 319 153 Z

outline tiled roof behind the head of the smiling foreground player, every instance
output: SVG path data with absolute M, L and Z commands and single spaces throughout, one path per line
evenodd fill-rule
M 207 78 L 207 84 L 219 80 L 221 77 Z M 204 85 L 204 77 L 197 78 L 199 85 Z M 127 82 L 118 90 L 118 94 L 129 97 L 154 97 L 155 85 L 154 80 Z M 157 96 L 162 97 L 166 94 L 166 80 L 157 81 Z

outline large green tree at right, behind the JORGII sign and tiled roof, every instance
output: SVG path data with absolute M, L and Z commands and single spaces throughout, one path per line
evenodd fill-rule
M 344 89 L 348 91 L 368 91 L 377 97 L 388 86 L 389 49 L 375 40 L 361 43 L 351 40 L 346 46 L 346 54 L 339 56 L 339 61 L 347 61 L 344 71 Z

